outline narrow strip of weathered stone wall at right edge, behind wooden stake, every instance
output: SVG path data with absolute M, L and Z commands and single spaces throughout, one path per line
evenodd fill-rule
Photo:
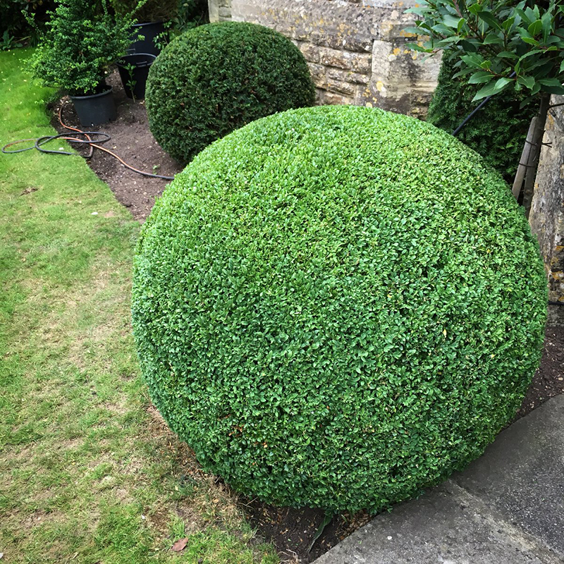
M 553 96 L 551 104 L 563 104 Z M 564 302 L 564 106 L 548 112 L 529 223 L 539 238 L 549 299 Z

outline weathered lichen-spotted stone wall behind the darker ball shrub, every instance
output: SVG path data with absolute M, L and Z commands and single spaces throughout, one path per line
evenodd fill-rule
M 229 6 L 227 6 L 229 4 Z M 290 37 L 321 104 L 379 106 L 423 117 L 440 58 L 406 49 L 415 0 L 209 0 L 210 20 L 259 23 Z

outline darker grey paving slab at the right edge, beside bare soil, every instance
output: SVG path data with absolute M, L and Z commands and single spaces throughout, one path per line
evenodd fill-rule
M 564 396 L 513 423 L 451 479 L 564 562 Z

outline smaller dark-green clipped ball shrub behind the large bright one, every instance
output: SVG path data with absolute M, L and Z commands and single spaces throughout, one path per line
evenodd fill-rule
M 201 25 L 174 39 L 149 71 L 149 128 L 187 163 L 211 142 L 277 111 L 311 106 L 315 89 L 300 49 L 253 23 Z

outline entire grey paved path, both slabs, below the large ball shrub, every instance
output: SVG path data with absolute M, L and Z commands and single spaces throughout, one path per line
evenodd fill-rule
M 564 396 L 505 429 L 417 500 L 377 516 L 314 564 L 563 564 Z

